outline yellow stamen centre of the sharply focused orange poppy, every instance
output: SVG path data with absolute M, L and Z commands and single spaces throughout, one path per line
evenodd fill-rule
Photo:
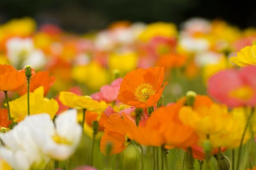
M 155 94 L 155 91 L 153 90 L 153 85 L 150 85 L 150 83 L 139 85 L 134 91 L 135 98 L 139 102 L 147 102 L 147 99 L 153 94 Z

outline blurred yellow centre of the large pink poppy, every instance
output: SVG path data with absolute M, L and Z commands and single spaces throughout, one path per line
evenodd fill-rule
M 253 94 L 253 89 L 248 86 L 243 86 L 241 88 L 230 91 L 230 97 L 240 100 L 249 100 Z

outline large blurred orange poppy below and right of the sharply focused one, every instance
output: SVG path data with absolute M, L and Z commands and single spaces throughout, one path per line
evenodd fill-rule
M 182 105 L 174 104 L 158 108 L 147 119 L 145 127 L 150 127 L 150 131 L 157 130 L 165 139 L 164 144 L 186 148 L 197 144 L 198 136 L 193 128 L 179 120 L 178 113 L 181 107 Z

